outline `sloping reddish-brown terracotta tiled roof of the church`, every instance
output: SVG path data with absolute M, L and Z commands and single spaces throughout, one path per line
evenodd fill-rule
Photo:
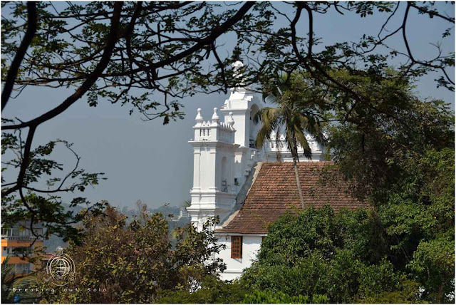
M 328 165 L 332 165 L 332 162 L 299 162 L 299 180 L 306 207 L 330 205 L 336 212 L 341 207 L 353 210 L 366 207 L 366 203 L 351 196 L 346 182 Z M 265 162 L 261 165 L 242 209 L 224 227 L 215 231 L 267 233 L 267 225 L 293 206 L 301 208 L 293 162 Z

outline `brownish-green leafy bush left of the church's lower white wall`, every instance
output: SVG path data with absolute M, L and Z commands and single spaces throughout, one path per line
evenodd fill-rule
M 151 303 L 160 291 L 195 291 L 206 276 L 225 268 L 220 259 L 211 259 L 223 247 L 215 243 L 210 229 L 214 223 L 208 221 L 202 232 L 191 225 L 176 229 L 177 244 L 172 247 L 167 219 L 149 214 L 145 206 L 129 224 L 112 207 L 105 215 L 89 213 L 83 220 L 81 246 L 72 245 L 67 252 L 76 263 L 76 280 L 65 288 L 79 289 L 43 292 L 43 301 Z

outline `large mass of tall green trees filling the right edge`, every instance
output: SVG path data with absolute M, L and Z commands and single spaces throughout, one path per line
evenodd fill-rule
M 440 100 L 418 100 L 406 83 L 358 81 L 371 90 L 381 113 L 354 107 L 349 123 L 330 129 L 336 167 L 356 195 L 375 206 L 380 253 L 420 285 L 419 300 L 452 302 L 454 115 Z

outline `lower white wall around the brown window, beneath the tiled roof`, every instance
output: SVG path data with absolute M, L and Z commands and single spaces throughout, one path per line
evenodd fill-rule
M 223 280 L 236 279 L 242 275 L 242 270 L 252 265 L 261 247 L 261 237 L 266 236 L 266 234 L 232 234 L 233 236 L 242 236 L 242 259 L 232 259 L 231 235 L 217 233 L 215 235 L 219 237 L 220 244 L 226 245 L 226 249 L 217 255 L 217 257 L 223 259 L 223 262 L 227 264 L 227 269 L 220 274 L 220 278 Z

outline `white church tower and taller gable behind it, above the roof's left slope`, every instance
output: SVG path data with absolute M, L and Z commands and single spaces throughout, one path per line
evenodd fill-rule
M 242 77 L 237 61 L 233 64 L 235 76 Z M 254 148 L 259 123 L 254 115 L 263 107 L 253 91 L 246 87 L 231 88 L 231 94 L 222 106 L 224 123 L 220 123 L 217 108 L 212 122 L 204 122 L 201 109 L 197 110 L 193 147 L 192 205 L 187 211 L 192 224 L 202 229 L 208 217 L 219 216 L 223 221 L 232 212 L 236 196 L 247 180 L 253 165 L 261 156 Z M 234 127 L 236 129 L 234 129 Z

